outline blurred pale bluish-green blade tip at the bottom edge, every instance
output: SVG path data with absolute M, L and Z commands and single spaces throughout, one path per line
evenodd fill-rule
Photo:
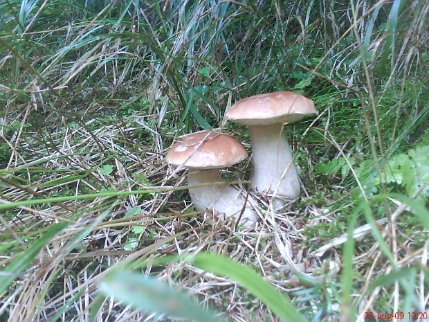
M 110 274 L 102 281 L 100 291 L 142 311 L 149 310 L 199 322 L 221 321 L 165 283 L 132 271 L 115 271 Z

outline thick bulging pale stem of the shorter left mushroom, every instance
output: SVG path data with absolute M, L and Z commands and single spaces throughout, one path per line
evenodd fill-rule
M 212 184 L 208 186 L 190 188 L 189 193 L 197 211 L 211 209 L 214 213 L 224 213 L 227 216 L 238 217 L 246 202 L 246 198 L 239 190 L 228 184 L 215 184 L 222 182 L 219 169 L 197 170 L 190 169 L 188 184 Z M 240 223 L 245 227 L 255 226 L 257 213 L 250 206 L 248 197 Z

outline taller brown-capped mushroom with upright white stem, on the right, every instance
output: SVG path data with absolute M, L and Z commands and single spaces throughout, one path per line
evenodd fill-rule
M 228 120 L 249 125 L 252 188 L 260 193 L 274 193 L 272 202 L 276 209 L 286 204 L 285 199 L 300 195 L 298 173 L 282 126 L 316 113 L 312 100 L 291 91 L 250 96 L 239 100 L 226 112 Z

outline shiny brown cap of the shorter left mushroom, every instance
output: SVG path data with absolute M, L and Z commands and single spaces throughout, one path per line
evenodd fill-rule
M 179 138 L 167 153 L 167 162 L 187 168 L 224 168 L 247 158 L 244 146 L 227 134 L 201 131 Z

